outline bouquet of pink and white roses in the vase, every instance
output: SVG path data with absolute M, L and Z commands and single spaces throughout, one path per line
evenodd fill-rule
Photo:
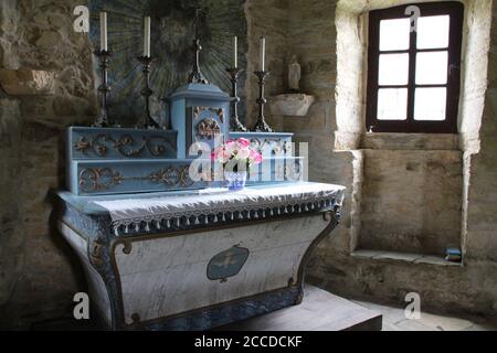
M 251 165 L 262 162 L 262 154 L 251 147 L 251 141 L 244 138 L 229 140 L 212 152 L 211 159 L 222 163 L 233 172 L 246 171 Z

